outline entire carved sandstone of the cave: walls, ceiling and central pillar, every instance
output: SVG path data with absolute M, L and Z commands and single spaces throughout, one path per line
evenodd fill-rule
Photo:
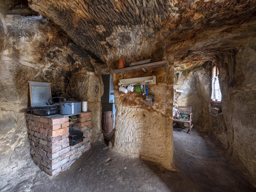
M 151 58 L 168 66 L 113 75 L 113 150 L 177 170 L 172 106 L 192 106 L 195 127 L 255 186 L 255 13 L 253 0 L 1 1 L 1 170 L 17 172 L 31 159 L 28 80 L 87 100 L 93 141 L 102 142 L 101 75 L 116 69 L 119 58 L 128 64 Z M 211 111 L 214 64 L 223 96 L 219 114 Z M 119 79 L 151 75 L 157 77 L 152 107 L 141 95 L 118 91 Z

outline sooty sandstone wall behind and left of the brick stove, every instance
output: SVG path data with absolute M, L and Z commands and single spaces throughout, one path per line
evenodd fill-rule
M 52 93 L 61 90 L 88 100 L 96 138 L 100 131 L 102 80 L 94 70 L 96 61 L 46 18 L 1 14 L 0 29 L 2 189 L 9 182 L 18 182 L 22 175 L 35 174 L 35 170 L 22 171 L 28 162 L 33 167 L 24 115 L 29 106 L 27 81 L 51 82 Z

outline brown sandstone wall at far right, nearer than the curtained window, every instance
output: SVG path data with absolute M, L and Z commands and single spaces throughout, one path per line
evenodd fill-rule
M 246 168 L 242 172 L 256 185 L 256 44 L 245 41 L 239 49 L 219 53 L 216 64 L 219 68 L 222 93 L 224 127 L 232 159 L 238 159 Z M 221 138 L 221 137 L 220 137 Z M 235 161 L 239 165 L 239 161 Z M 249 171 L 249 175 L 246 172 Z

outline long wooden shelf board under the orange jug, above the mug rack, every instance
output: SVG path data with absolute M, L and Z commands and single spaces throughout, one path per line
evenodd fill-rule
M 127 72 L 133 72 L 133 71 L 139 71 L 139 70 L 147 70 L 147 69 L 151 69 L 151 68 L 156 68 L 156 67 L 163 67 L 166 66 L 168 64 L 167 60 L 164 61 L 157 61 L 154 63 L 148 63 L 148 64 L 142 64 L 142 65 L 137 65 L 137 66 L 133 66 L 133 67 L 126 67 L 126 68 L 122 68 L 122 69 L 117 69 L 117 70 L 111 70 L 111 73 L 127 73 Z

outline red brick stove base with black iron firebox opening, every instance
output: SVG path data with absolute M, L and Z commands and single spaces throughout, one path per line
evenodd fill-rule
M 79 113 L 72 117 L 26 114 L 32 160 L 49 175 L 57 175 L 69 168 L 83 152 L 90 149 L 91 113 Z M 70 146 L 69 129 L 83 132 L 83 141 Z

